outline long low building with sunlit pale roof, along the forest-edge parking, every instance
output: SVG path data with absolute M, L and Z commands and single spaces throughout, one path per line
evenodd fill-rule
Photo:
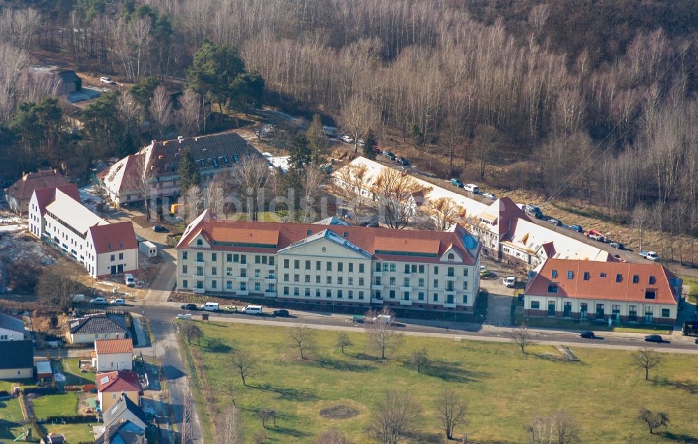
M 368 200 L 375 200 L 372 190 L 376 177 L 381 170 L 391 167 L 357 157 L 343 168 L 362 168 L 362 184 L 357 186 L 354 182 L 347 183 L 342 169 L 333 173 L 334 182 L 339 186 L 343 184 L 345 188 L 350 186 L 348 189 Z M 442 188 L 418 177 L 413 179 L 428 189 L 424 195 L 413 196 L 414 212 L 420 205 L 424 205 L 426 200 L 452 200 L 455 205 L 465 210 L 466 215 L 461 223 L 482 243 L 482 253 L 495 260 L 526 269 L 537 267 L 547 258 L 602 262 L 616 260 L 608 251 L 535 223 L 510 198 L 503 197 L 491 203 L 483 203 L 456 192 L 456 188 L 452 186 Z

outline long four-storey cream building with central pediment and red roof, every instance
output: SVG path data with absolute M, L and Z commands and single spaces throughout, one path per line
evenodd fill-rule
M 217 220 L 177 245 L 177 288 L 310 304 L 473 311 L 480 243 L 449 232 Z

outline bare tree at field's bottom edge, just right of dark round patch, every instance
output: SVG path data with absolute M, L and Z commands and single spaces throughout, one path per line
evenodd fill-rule
M 371 415 L 369 438 L 380 444 L 398 444 L 412 430 L 420 410 L 407 392 L 387 392 Z

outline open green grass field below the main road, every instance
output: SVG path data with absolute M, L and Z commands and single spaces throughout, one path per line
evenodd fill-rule
M 193 369 L 195 401 L 206 442 L 213 438 L 215 415 L 230 405 L 225 387 L 240 387 L 236 397 L 245 422 L 245 442 L 262 431 L 255 411 L 275 410 L 277 427 L 267 431 L 267 443 L 309 443 L 321 431 L 336 427 L 357 443 L 369 442 L 365 428 L 371 410 L 385 391 L 405 390 L 419 401 L 417 435 L 410 442 L 443 442 L 435 419 L 436 394 L 450 386 L 468 401 L 468 424 L 456 436 L 482 443 L 527 441 L 524 429 L 535 415 L 567 409 L 581 427 L 584 443 L 698 442 L 698 422 L 692 414 L 698 374 L 694 355 L 662 354 L 664 363 L 645 381 L 630 366 L 630 352 L 574 348 L 579 362 L 562 360 L 556 348 L 534 346 L 522 357 L 509 343 L 452 341 L 407 336 L 402 348 L 380 361 L 362 333 L 352 334 L 355 346 L 341 355 L 333 347 L 336 332 L 318 331 L 313 359 L 301 361 L 287 346 L 282 327 L 198 323 L 204 336 L 186 362 L 202 363 L 203 375 Z M 180 339 L 184 345 L 184 339 Z M 413 350 L 426 347 L 433 364 L 419 374 L 403 360 Z M 260 360 L 262 373 L 242 387 L 232 371 L 230 355 L 244 348 Z M 203 376 L 203 377 L 202 377 Z M 203 390 L 202 390 L 202 387 Z M 209 403 L 215 405 L 212 412 Z M 350 406 L 359 411 L 345 420 L 321 417 L 320 409 Z M 660 410 L 671 425 L 650 435 L 637 421 L 640 408 Z

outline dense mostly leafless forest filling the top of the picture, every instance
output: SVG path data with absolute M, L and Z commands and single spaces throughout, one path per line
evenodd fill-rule
M 442 177 L 588 200 L 626 220 L 642 207 L 656 215 L 657 228 L 696 232 L 695 1 L 1 5 L 2 131 L 22 102 L 39 99 L 40 89 L 17 86 L 16 68 L 30 64 L 29 54 L 61 52 L 80 71 L 133 82 L 184 81 L 194 54 L 210 42 L 239 54 L 263 82 L 264 103 L 320 113 L 344 131 L 371 129 L 379 146 L 400 138 L 433 158 Z M 128 151 L 138 143 L 113 145 Z

